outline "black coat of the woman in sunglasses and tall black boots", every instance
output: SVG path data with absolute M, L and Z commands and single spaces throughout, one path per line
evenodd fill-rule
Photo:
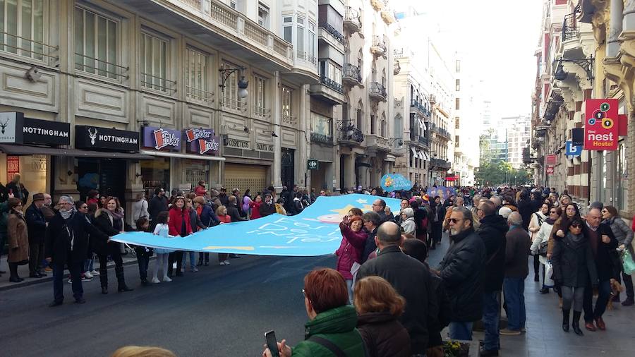
M 591 243 L 586 236 L 575 242 L 571 234 L 555 242 L 551 263 L 553 265 L 553 279 L 562 286 L 581 288 L 598 284 L 598 272 L 595 270 L 595 260 Z

